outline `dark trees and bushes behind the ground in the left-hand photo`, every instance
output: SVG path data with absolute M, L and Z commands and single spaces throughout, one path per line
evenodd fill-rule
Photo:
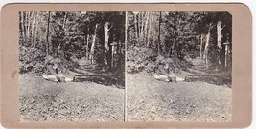
M 125 12 L 21 11 L 19 21 L 21 74 L 41 75 L 51 55 L 73 75 L 89 75 L 78 81 L 124 86 Z

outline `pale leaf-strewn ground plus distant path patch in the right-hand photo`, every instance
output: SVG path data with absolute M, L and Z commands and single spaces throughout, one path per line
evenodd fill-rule
M 203 75 L 201 62 L 192 62 Z M 217 81 L 215 81 L 217 82 Z M 207 81 L 167 83 L 147 73 L 128 74 L 128 121 L 231 121 L 232 89 Z

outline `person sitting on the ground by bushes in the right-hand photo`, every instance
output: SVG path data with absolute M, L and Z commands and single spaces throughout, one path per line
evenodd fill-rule
M 154 74 L 154 78 L 161 81 L 166 82 L 180 82 L 184 81 L 185 78 L 181 78 L 175 75 L 174 71 L 170 67 L 174 63 L 171 58 L 164 58 L 163 56 L 159 56 L 156 60 L 156 71 Z

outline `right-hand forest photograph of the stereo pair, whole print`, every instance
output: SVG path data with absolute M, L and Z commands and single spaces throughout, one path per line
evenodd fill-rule
M 232 15 L 128 12 L 128 121 L 232 120 Z

